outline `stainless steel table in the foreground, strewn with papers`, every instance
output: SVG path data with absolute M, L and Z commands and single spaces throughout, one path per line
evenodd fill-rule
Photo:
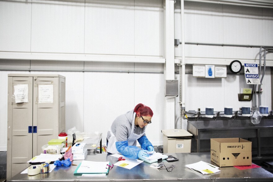
M 221 167 L 221 172 L 200 175 L 185 167 L 185 164 L 191 164 L 199 161 L 211 163 L 210 153 L 170 153 L 170 155 L 179 159 L 179 161 L 167 162 L 163 160 L 166 166 L 175 164 L 175 168 L 168 172 L 150 167 L 147 162 L 142 162 L 131 170 L 114 166 L 106 176 L 74 176 L 73 172 L 77 166 L 56 166 L 51 173 L 29 176 L 27 174 L 17 174 L 11 181 L 273 181 L 273 174 L 262 169 L 239 170 L 235 167 Z M 110 161 L 111 164 L 117 161 L 117 158 L 109 154 L 88 154 L 85 160 L 88 161 Z M 79 164 L 79 161 L 73 161 Z

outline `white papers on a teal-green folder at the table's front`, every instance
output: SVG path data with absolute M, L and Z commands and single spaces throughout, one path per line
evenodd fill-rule
M 110 162 L 93 162 L 83 160 L 83 162 L 81 162 L 74 171 L 74 175 L 106 175 L 109 172 L 109 165 Z

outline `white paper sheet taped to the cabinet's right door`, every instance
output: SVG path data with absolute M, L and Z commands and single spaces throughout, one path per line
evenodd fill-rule
M 53 103 L 53 85 L 38 85 L 38 103 Z

